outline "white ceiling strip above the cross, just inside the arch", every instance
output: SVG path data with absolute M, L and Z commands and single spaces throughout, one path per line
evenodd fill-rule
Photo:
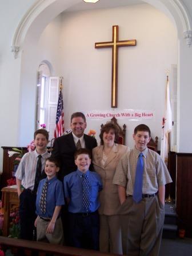
M 145 2 L 143 2 L 142 0 L 100 0 L 97 3 L 85 3 L 82 1 L 77 3 L 77 5 L 71 6 L 69 9 L 65 10 L 65 12 L 114 8 L 118 6 L 138 5 L 140 3 L 145 3 Z

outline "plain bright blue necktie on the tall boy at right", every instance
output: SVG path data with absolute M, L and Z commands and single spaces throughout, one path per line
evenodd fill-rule
M 140 153 L 137 159 L 137 167 L 135 173 L 135 183 L 133 190 L 133 200 L 138 203 L 142 199 L 142 185 L 143 185 L 143 153 Z

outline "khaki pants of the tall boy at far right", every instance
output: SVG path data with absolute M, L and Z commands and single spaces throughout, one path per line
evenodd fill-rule
M 161 245 L 164 206 L 158 196 L 135 203 L 127 197 L 119 211 L 122 228 L 123 254 L 158 256 Z

